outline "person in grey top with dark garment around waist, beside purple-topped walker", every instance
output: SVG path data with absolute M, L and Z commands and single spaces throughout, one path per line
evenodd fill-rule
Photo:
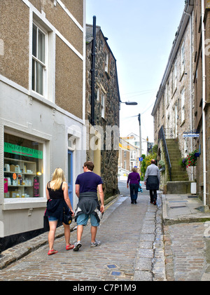
M 157 191 L 160 185 L 160 171 L 155 165 L 154 159 L 151 160 L 151 165 L 146 168 L 144 184 L 146 185 L 146 190 L 150 191 L 151 203 L 156 205 Z

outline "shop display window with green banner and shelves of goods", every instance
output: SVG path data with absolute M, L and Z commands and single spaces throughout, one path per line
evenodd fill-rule
M 43 197 L 43 144 L 4 134 L 4 198 Z

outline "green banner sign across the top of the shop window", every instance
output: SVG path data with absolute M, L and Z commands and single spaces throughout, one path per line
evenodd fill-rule
M 5 153 L 15 153 L 20 156 L 27 156 L 31 158 L 43 158 L 43 152 L 37 149 L 30 149 L 25 146 L 18 146 L 17 144 L 10 144 L 9 142 L 4 142 L 4 152 Z

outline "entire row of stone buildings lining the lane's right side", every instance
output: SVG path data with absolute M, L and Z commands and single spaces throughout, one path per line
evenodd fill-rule
M 204 205 L 210 204 L 209 8 L 208 0 L 186 1 L 152 113 L 156 144 L 163 127 L 166 138 L 179 142 L 181 157 L 198 151 L 197 166 L 187 172 L 189 180 L 197 182 Z M 160 150 L 158 154 L 160 160 Z

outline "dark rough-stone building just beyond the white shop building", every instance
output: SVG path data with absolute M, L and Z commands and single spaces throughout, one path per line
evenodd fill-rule
M 92 118 L 93 26 L 86 25 L 87 160 L 104 179 L 105 198 L 118 193 L 118 142 L 120 93 L 116 58 L 102 29 L 96 27 L 94 118 Z M 92 125 L 92 119 L 94 125 Z

